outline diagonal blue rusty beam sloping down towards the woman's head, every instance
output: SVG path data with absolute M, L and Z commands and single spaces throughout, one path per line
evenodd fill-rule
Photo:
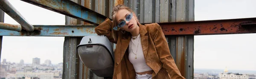
M 84 22 L 99 25 L 107 17 L 71 0 L 22 0 L 33 5 L 55 11 Z

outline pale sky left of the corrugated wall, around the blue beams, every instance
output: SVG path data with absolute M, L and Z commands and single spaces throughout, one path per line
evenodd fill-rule
M 20 14 L 32 25 L 65 25 L 63 14 L 49 11 L 20 1 L 9 0 Z M 17 24 L 15 20 L 5 14 L 4 23 Z M 52 64 L 63 62 L 64 37 L 3 37 L 1 62 L 3 59 L 19 63 L 32 63 L 35 57 L 40 58 L 41 64 L 45 60 L 51 60 Z

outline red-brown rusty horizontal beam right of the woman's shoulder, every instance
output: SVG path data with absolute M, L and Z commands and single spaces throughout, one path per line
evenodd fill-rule
M 256 33 L 256 18 L 158 23 L 165 35 Z

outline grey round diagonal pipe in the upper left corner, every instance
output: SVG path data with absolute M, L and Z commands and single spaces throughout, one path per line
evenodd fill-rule
M 26 31 L 33 31 L 34 27 L 17 11 L 8 0 L 0 0 L 0 8 L 19 23 Z

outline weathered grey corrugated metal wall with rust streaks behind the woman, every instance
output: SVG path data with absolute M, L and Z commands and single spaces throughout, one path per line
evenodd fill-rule
M 119 2 L 132 8 L 140 23 L 166 23 L 194 21 L 194 0 L 72 0 L 100 14 L 111 18 L 112 7 Z M 66 17 L 66 24 L 84 24 Z M 177 67 L 186 79 L 193 79 L 194 36 L 166 36 L 169 49 Z M 86 68 L 79 59 L 75 46 L 81 37 L 65 37 L 64 72 L 65 79 L 103 79 Z M 74 43 L 76 42 L 76 43 Z M 72 64 L 72 65 L 70 65 Z M 71 66 L 71 67 L 70 67 Z

